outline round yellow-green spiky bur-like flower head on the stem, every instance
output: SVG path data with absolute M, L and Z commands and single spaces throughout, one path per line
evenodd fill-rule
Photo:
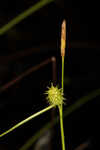
M 48 87 L 48 90 L 45 92 L 45 94 L 47 94 L 47 100 L 49 102 L 50 105 L 62 105 L 64 102 L 64 97 L 63 97 L 63 93 L 62 93 L 62 89 L 58 89 L 57 86 L 53 86 L 53 84 L 51 84 L 51 87 Z

